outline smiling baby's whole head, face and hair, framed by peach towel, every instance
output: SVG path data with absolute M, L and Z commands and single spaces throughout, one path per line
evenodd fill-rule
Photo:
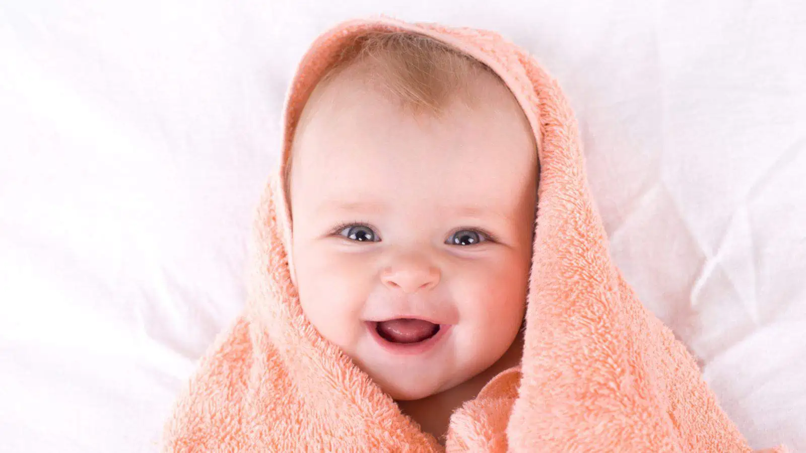
M 342 56 L 286 164 L 297 289 L 381 389 L 420 399 L 490 367 L 521 328 L 534 135 L 491 69 L 433 39 L 364 35 Z

